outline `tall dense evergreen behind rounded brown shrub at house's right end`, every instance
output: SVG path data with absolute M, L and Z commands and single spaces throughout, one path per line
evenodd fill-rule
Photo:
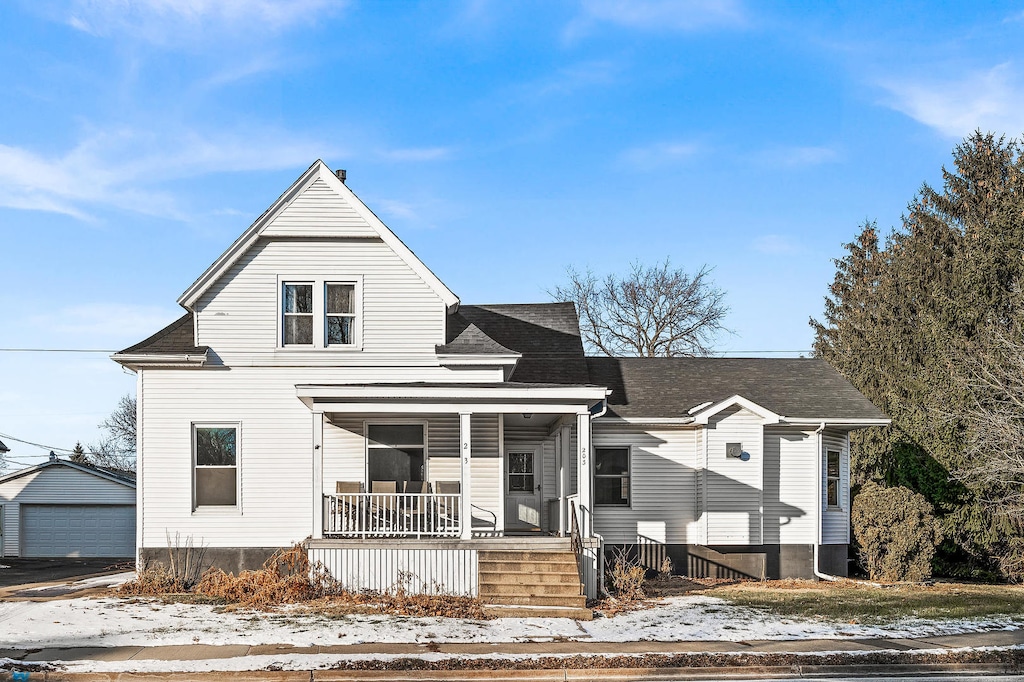
M 937 568 L 964 574 L 999 563 L 1014 532 L 976 475 L 979 452 L 969 442 L 979 422 L 969 408 L 977 399 L 962 368 L 987 352 L 993 328 L 1014 329 L 1024 173 L 1015 141 L 980 132 L 954 148 L 953 162 L 940 188 L 923 185 L 884 248 L 873 224 L 847 245 L 823 321 L 811 325 L 816 354 L 893 419 L 854 435 L 855 484 L 923 494 L 947 539 Z

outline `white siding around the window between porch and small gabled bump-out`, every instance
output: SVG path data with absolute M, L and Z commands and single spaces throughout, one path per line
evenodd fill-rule
M 696 453 L 692 429 L 594 422 L 594 449 L 631 449 L 630 506 L 594 508 L 594 530 L 611 544 L 695 542 Z

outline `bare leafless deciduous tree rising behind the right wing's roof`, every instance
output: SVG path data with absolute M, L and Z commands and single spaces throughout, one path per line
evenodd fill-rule
M 568 283 L 549 291 L 555 300 L 572 301 L 588 351 L 611 356 L 710 355 L 729 312 L 725 293 L 711 281 L 711 268 L 695 274 L 672 267 L 669 259 L 630 266 L 623 278 L 603 280 L 588 269 L 567 268 Z

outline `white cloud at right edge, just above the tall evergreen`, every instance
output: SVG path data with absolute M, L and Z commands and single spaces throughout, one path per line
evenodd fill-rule
M 885 104 L 948 137 L 1024 131 L 1024 82 L 1009 62 L 952 79 L 889 79 Z

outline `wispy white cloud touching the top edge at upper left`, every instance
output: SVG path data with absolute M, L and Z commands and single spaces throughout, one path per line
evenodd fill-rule
M 344 0 L 72 0 L 63 20 L 95 36 L 126 34 L 160 45 L 284 31 L 337 12 Z

